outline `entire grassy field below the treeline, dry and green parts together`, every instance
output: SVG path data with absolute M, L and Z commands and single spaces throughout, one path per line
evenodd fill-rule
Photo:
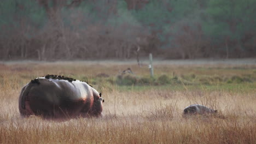
M 2 62 L 0 143 L 256 143 L 256 64 L 231 62 L 156 62 L 154 79 L 136 62 Z M 102 92 L 103 117 L 20 117 L 22 86 L 46 74 Z M 195 103 L 218 114 L 182 117 Z

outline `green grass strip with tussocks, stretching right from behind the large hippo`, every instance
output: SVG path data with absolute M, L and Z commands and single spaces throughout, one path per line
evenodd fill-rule
M 207 88 L 210 91 L 253 91 L 256 87 L 256 76 L 245 75 L 187 75 L 168 76 L 166 74 L 155 77 L 124 74 L 117 76 L 80 76 L 75 77 L 97 86 L 98 91 L 118 89 L 120 91 L 147 91 L 148 89 L 169 89 L 184 91 Z

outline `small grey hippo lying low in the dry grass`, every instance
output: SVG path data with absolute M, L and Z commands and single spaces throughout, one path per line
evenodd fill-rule
M 205 115 L 207 113 L 216 113 L 217 110 L 210 109 L 204 105 L 193 104 L 190 106 L 185 107 L 183 110 L 183 115 Z

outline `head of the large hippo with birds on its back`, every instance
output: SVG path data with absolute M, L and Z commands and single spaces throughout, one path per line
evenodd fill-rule
M 101 117 L 102 116 L 102 103 L 104 103 L 104 99 L 101 97 L 101 93 L 98 94 L 99 97 L 94 99 L 94 103 L 92 105 L 91 110 L 89 111 L 89 116 Z

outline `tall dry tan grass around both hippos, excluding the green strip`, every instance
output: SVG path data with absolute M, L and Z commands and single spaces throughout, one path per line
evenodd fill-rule
M 0 71 L 0 143 L 255 143 L 256 95 L 255 89 L 246 89 L 246 83 L 238 83 L 239 91 L 222 87 L 209 89 L 200 85 L 183 89 L 175 85 L 119 87 L 117 83 L 95 83 L 102 91 L 103 117 L 77 118 L 69 121 L 48 121 L 41 117 L 21 118 L 18 97 L 21 87 L 34 77 L 46 74 L 67 75 L 78 79 L 87 77 L 92 82 L 98 71 L 115 76 L 115 70 L 127 65 L 79 63 L 6 64 Z M 24 69 L 20 69 L 25 67 Z M 134 68 L 133 68 L 134 67 Z M 161 69 L 161 65 L 158 66 Z M 173 67 L 165 67 L 165 74 L 172 75 Z M 200 76 L 202 71 L 190 66 L 190 71 Z M 18 69 L 19 68 L 19 69 Z M 114 70 L 113 70 L 113 69 Z M 214 67 L 213 67 L 214 68 Z M 86 70 L 85 70 L 86 69 Z M 136 75 L 147 76 L 144 68 L 132 65 Z M 109 71 L 110 72 L 109 72 Z M 176 74 L 184 74 L 185 68 L 177 68 Z M 223 69 L 220 69 L 223 70 Z M 178 71 L 181 71 L 179 73 Z M 212 69 L 203 69 L 211 76 Z M 156 75 L 163 72 L 156 71 Z M 227 71 L 222 74 L 225 75 Z M 232 69 L 230 69 L 230 73 Z M 221 74 L 221 73 L 220 73 Z M 237 75 L 253 74 L 252 70 L 237 71 Z M 190 75 L 190 74 L 188 74 Z M 193 76 L 194 77 L 194 76 Z M 113 79 L 113 78 L 110 78 Z M 196 79 L 196 78 L 195 78 Z M 226 83 L 224 86 L 230 85 Z M 255 86 L 255 82 L 249 84 Z M 139 91 L 135 87 L 141 88 Z M 217 109 L 218 116 L 183 118 L 185 106 L 199 103 Z

